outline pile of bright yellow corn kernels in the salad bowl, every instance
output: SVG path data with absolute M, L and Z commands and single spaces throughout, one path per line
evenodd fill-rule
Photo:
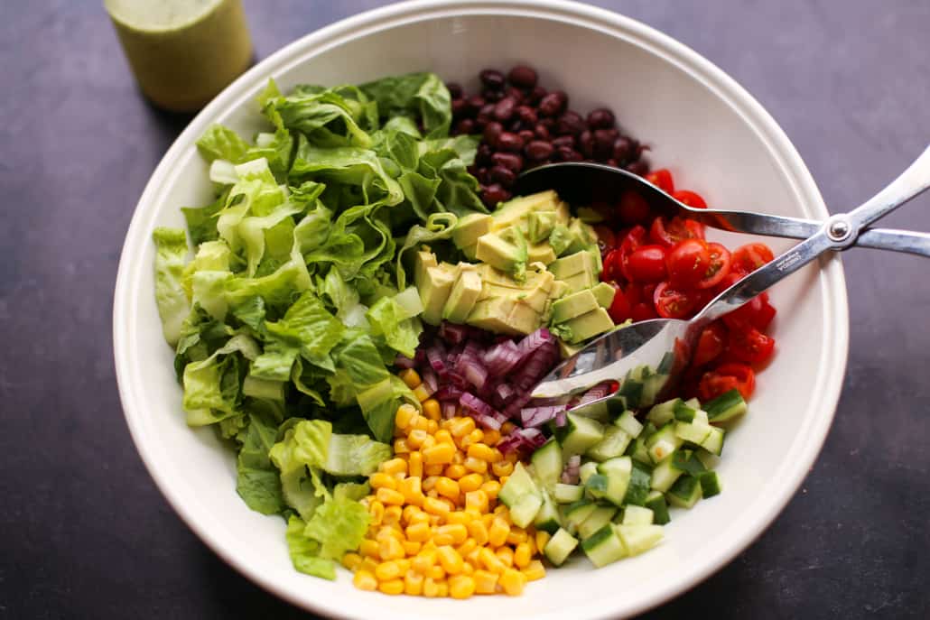
M 515 455 L 495 448 L 497 430 L 469 416 L 442 419 L 439 402 L 420 387 L 414 370 L 400 374 L 422 402 L 397 410 L 394 458 L 369 477 L 374 495 L 358 553 L 343 565 L 352 583 L 385 594 L 468 599 L 473 594 L 517 596 L 546 574 L 536 559 L 549 534 L 512 525 L 498 505 Z M 504 429 L 506 431 L 506 429 Z

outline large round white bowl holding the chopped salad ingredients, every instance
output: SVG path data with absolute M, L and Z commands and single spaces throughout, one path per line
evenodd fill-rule
M 804 162 L 749 94 L 671 38 L 601 9 L 545 0 L 411 2 L 340 21 L 260 62 L 194 119 L 145 188 L 120 262 L 113 338 L 129 429 L 168 501 L 225 561 L 306 609 L 381 620 L 578 620 L 642 612 L 750 545 L 797 490 L 830 427 L 848 332 L 843 271 L 835 258 L 772 292 L 777 357 L 759 377 L 750 415 L 727 438 L 724 493 L 674 515 L 657 549 L 599 571 L 578 559 L 551 570 L 523 597 L 468 601 L 366 593 L 352 587 L 346 572 L 331 583 L 291 567 L 284 522 L 249 511 L 235 493 L 233 456 L 211 430 L 184 424 L 172 351 L 153 300 L 153 228 L 180 226 L 180 206 L 209 201 L 206 165 L 194 140 L 211 123 L 246 134 L 259 129 L 253 100 L 269 76 L 287 88 L 433 71 L 473 90 L 481 69 L 517 61 L 537 66 L 544 85 L 564 88 L 578 111 L 612 107 L 623 126 L 651 145 L 654 163 L 670 167 L 680 187 L 699 191 L 709 203 L 827 216 Z M 771 244 L 777 250 L 789 245 Z

